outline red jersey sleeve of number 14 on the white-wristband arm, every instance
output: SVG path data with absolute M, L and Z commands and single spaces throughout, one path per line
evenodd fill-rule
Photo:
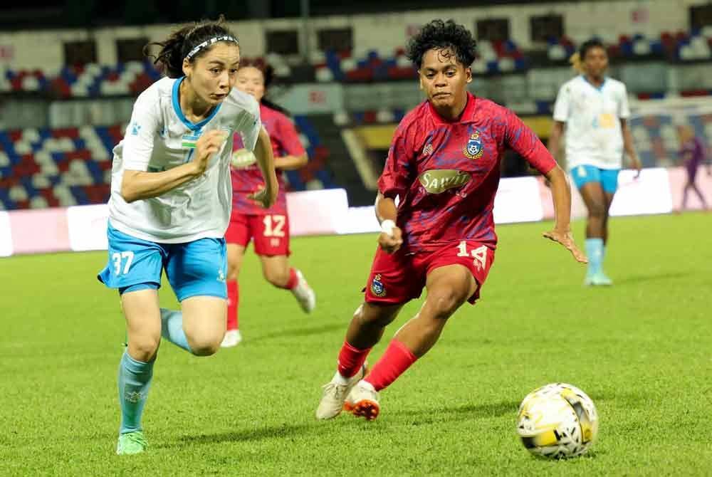
M 409 125 L 412 125 L 412 122 L 409 122 Z M 400 196 L 402 200 L 412 182 L 415 157 L 412 128 L 402 123 L 399 125 L 388 150 L 383 172 L 378 179 L 378 190 L 389 199 Z

